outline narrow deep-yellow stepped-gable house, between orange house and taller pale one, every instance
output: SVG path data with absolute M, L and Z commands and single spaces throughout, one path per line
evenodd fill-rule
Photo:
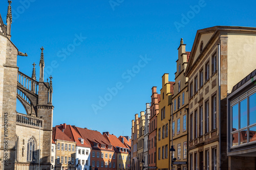
M 172 102 L 174 82 L 168 81 L 168 74 L 162 76 L 161 101 L 157 115 L 157 169 L 169 169 L 169 126 L 170 104 Z

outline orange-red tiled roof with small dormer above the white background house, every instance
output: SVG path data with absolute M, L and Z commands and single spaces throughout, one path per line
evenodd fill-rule
M 73 141 L 76 142 L 76 145 L 79 147 L 89 147 L 91 148 L 91 145 L 86 142 L 86 140 L 83 140 L 83 144 L 81 143 L 81 140 L 78 138 L 82 138 L 78 132 L 71 126 L 71 125 L 66 125 L 66 129 L 62 129 L 63 125 L 57 126 L 60 130 L 63 131 L 67 136 L 69 136 Z M 83 139 L 83 138 L 82 138 Z

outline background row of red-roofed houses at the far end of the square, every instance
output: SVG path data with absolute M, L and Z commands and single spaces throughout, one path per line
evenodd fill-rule
M 131 165 L 131 140 L 109 132 L 67 124 L 53 127 L 52 169 L 125 170 Z

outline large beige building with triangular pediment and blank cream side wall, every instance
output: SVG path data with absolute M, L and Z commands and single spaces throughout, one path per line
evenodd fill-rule
M 228 168 L 226 96 L 255 69 L 255 37 L 255 28 L 217 26 L 197 31 L 185 71 L 189 169 Z

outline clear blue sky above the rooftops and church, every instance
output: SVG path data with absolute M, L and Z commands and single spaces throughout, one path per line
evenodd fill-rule
M 29 55 L 18 56 L 19 70 L 31 75 L 35 62 L 38 79 L 40 47 L 45 48 L 45 74 L 53 77 L 53 126 L 67 123 L 130 136 L 134 115 L 151 101 L 151 88 L 160 90 L 164 73 L 174 81 L 180 38 L 190 51 L 199 29 L 256 27 L 253 1 L 111 2 L 112 6 L 109 0 L 12 3 L 12 41 Z M 7 6 L 7 0 L 0 1 L 4 21 Z M 182 27 L 177 29 L 175 23 Z M 80 42 L 77 36 L 86 39 Z M 137 67 L 145 55 L 151 61 Z M 132 68 L 136 74 L 130 79 L 127 70 Z M 92 105 L 99 105 L 99 96 L 104 98 L 118 82 L 122 89 L 96 114 Z

